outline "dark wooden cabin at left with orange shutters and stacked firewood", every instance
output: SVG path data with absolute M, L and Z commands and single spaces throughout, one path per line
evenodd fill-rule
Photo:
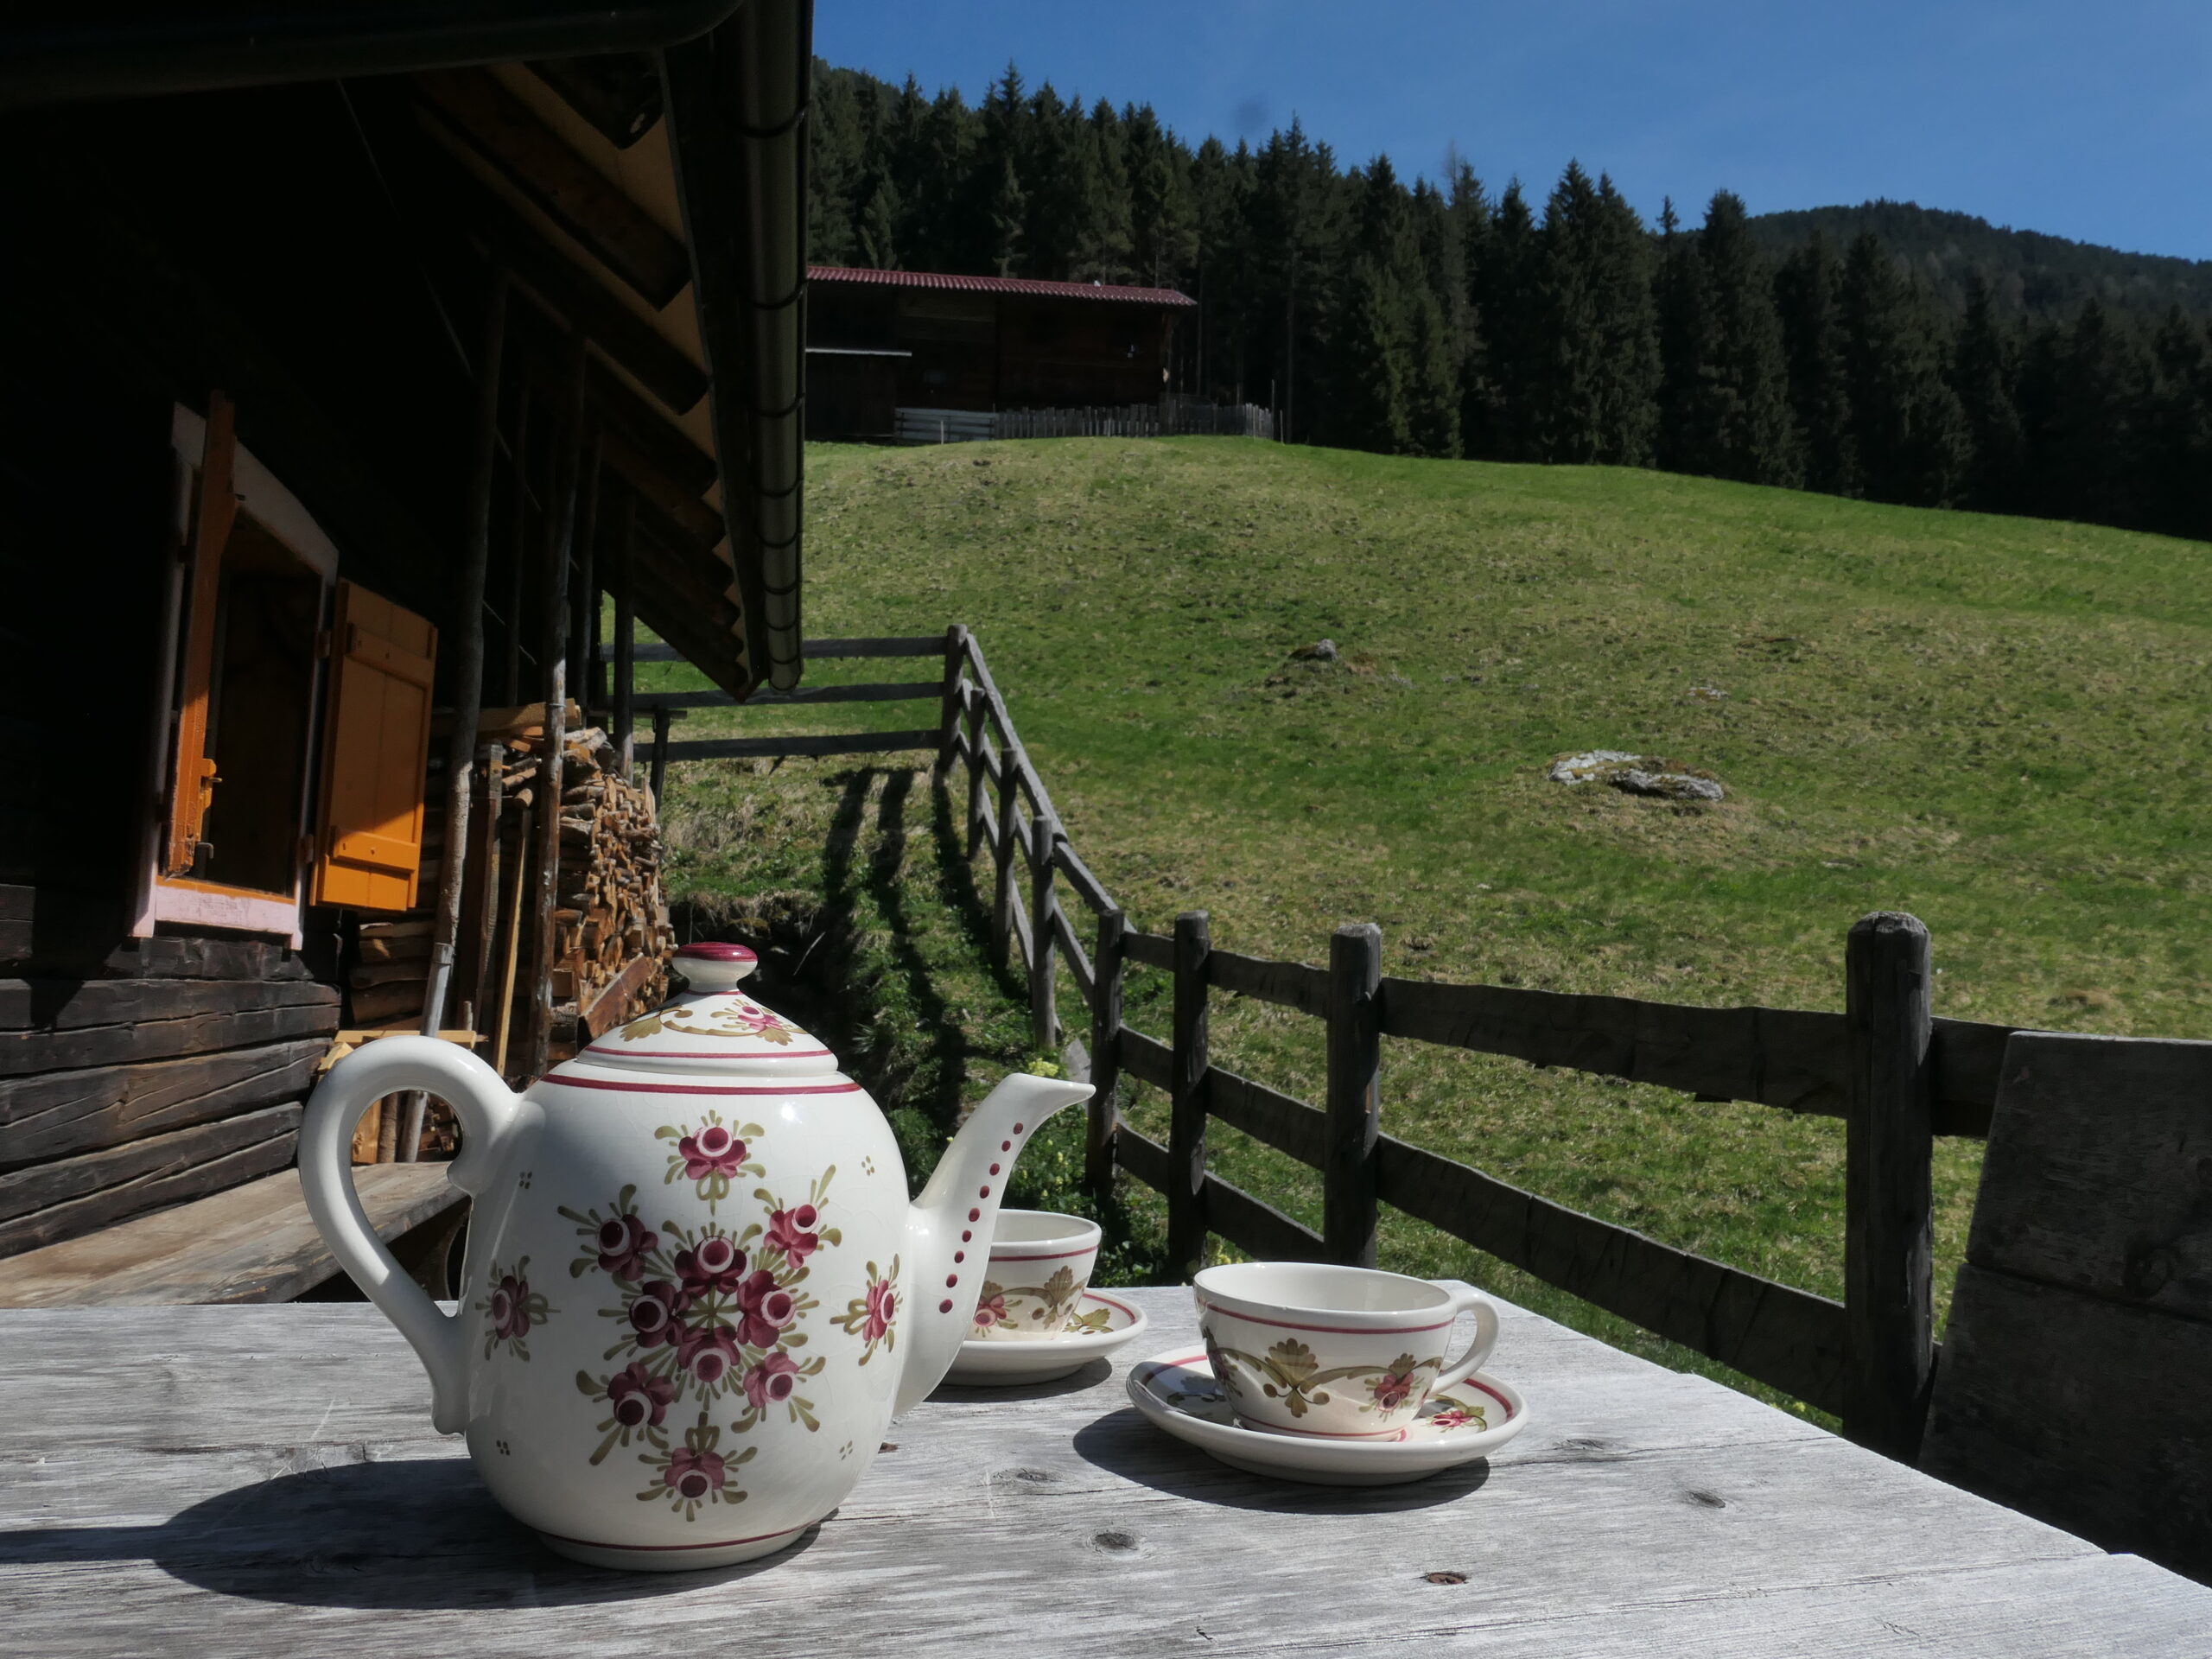
M 336 1053 L 664 991 L 644 624 L 799 677 L 807 0 L 0 24 L 0 1303 L 312 1294 Z M 356 1141 L 425 1281 L 420 1097 Z

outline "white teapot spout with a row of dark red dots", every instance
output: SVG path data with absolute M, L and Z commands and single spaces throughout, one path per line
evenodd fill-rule
M 1084 1099 L 1091 1099 L 1091 1084 L 1018 1071 L 984 1097 L 945 1148 L 936 1175 L 907 1212 L 907 1259 L 914 1263 L 907 1336 L 914 1347 L 894 1413 L 925 1400 L 960 1356 L 1013 1159 L 1046 1117 Z M 953 1261 L 956 1254 L 960 1261 Z

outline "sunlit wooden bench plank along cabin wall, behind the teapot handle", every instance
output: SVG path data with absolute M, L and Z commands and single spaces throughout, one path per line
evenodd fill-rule
M 445 1164 L 365 1164 L 354 1190 L 380 1239 L 467 1203 Z M 290 1301 L 334 1279 L 299 1170 L 0 1261 L 0 1307 Z

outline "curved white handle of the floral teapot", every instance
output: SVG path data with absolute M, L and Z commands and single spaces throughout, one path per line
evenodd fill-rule
M 438 1037 L 378 1037 L 363 1044 L 323 1077 L 299 1130 L 299 1183 L 323 1243 L 354 1283 L 376 1303 L 429 1371 L 431 1422 L 438 1433 L 460 1433 L 469 1416 L 469 1345 L 458 1314 L 442 1314 L 376 1237 L 354 1192 L 354 1126 L 372 1099 L 422 1088 L 460 1117 L 460 1157 L 447 1179 L 480 1194 L 500 1166 L 504 1141 L 522 1102 L 500 1075 L 467 1048 Z

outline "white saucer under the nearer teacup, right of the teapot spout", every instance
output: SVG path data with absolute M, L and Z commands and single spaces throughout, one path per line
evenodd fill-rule
M 1157 1427 L 1230 1469 L 1316 1486 L 1391 1486 L 1491 1455 L 1528 1427 L 1528 1402 L 1511 1383 L 1478 1371 L 1449 1394 L 1429 1396 L 1420 1416 L 1387 1440 L 1325 1440 L 1248 1429 L 1203 1347 L 1177 1347 L 1128 1374 L 1128 1398 Z

